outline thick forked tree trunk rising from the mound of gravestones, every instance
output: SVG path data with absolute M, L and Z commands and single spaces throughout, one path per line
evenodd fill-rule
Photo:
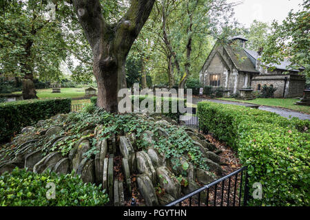
M 74 10 L 94 55 L 98 83 L 97 106 L 118 111 L 118 90 L 126 87 L 125 60 L 132 43 L 147 21 L 155 0 L 132 0 L 125 16 L 108 25 L 99 0 L 74 0 Z

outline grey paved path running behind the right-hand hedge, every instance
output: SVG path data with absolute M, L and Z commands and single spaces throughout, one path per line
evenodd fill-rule
M 226 100 L 193 97 L 193 104 L 197 104 L 198 102 L 202 102 L 202 101 L 217 102 L 217 103 L 222 103 L 222 104 L 236 104 L 236 105 L 243 105 L 243 106 L 247 105 L 247 103 L 244 103 L 244 102 L 230 102 L 230 101 L 226 101 Z M 267 106 L 263 106 L 263 105 L 258 107 L 258 109 L 265 110 L 265 111 L 271 111 L 271 112 L 277 113 L 278 115 L 281 115 L 282 117 L 285 117 L 285 118 L 290 118 L 290 116 L 291 116 L 291 117 L 297 117 L 301 120 L 310 120 L 309 114 L 299 113 L 298 111 L 293 111 L 293 110 L 289 110 L 289 109 L 281 109 L 281 108 L 277 108 L 277 107 L 267 107 Z

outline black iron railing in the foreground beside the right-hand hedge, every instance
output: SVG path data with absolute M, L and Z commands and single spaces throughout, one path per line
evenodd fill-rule
M 166 206 L 247 206 L 248 198 L 248 175 L 244 166 Z

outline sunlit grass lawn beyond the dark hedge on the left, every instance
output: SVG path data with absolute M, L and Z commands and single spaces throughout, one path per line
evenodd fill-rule
M 52 89 L 36 89 L 39 98 L 73 98 L 85 96 L 85 88 L 61 88 L 60 94 L 52 94 Z M 15 92 L 21 94 L 21 91 Z

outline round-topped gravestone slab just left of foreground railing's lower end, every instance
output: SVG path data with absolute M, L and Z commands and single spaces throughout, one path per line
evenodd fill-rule
M 136 179 L 141 195 L 145 199 L 147 206 L 158 206 L 156 192 L 151 179 L 145 174 L 139 175 Z

